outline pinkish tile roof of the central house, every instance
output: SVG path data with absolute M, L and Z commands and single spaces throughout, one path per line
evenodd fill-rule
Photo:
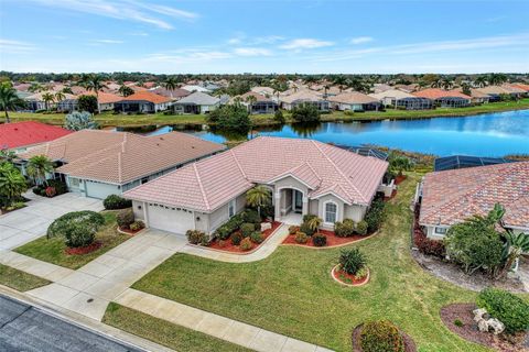
M 312 140 L 260 136 L 139 186 L 130 199 L 210 212 L 255 184 L 289 174 L 349 204 L 368 205 L 388 163 Z

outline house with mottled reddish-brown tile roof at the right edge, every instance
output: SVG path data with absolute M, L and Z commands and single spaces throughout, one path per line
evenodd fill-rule
M 419 223 L 431 239 L 442 239 L 455 223 L 486 216 L 500 204 L 504 226 L 529 231 L 529 162 L 434 172 L 418 187 Z

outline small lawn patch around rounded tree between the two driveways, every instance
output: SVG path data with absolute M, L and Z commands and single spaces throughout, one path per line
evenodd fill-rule
M 128 234 L 122 234 L 116 230 L 116 212 L 109 211 L 102 215 L 105 217 L 105 226 L 96 234 L 96 241 L 102 242 L 102 246 L 97 251 L 82 255 L 68 255 L 64 252 L 66 249 L 64 239 L 47 239 L 46 237 L 42 237 L 19 246 L 14 252 L 47 263 L 77 270 L 130 238 Z M 43 231 L 45 229 L 43 229 Z

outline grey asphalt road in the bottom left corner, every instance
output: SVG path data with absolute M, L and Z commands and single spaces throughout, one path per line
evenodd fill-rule
M 0 352 L 140 352 L 0 295 Z

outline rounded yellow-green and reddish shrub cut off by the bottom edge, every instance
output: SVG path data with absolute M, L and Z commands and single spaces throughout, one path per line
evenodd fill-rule
M 360 346 L 364 352 L 404 352 L 399 329 L 388 320 L 366 322 L 361 327 Z

